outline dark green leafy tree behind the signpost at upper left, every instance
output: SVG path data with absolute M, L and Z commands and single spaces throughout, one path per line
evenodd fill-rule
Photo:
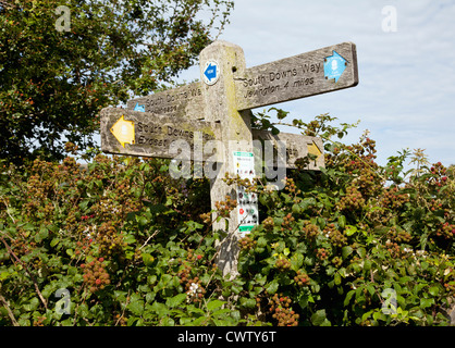
M 93 147 L 98 111 L 171 83 L 233 7 L 224 0 L 73 0 L 62 27 L 61 4 L 0 3 L 0 157 L 16 163 L 37 154 L 61 160 L 65 139 Z

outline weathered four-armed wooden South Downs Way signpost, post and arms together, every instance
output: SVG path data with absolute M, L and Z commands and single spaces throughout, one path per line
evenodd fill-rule
M 242 188 L 228 186 L 224 174 L 251 177 L 251 158 L 263 141 L 278 149 L 285 145 L 285 158 L 269 161 L 271 166 L 295 169 L 296 160 L 308 153 L 316 154 L 309 170 L 324 166 L 320 138 L 251 129 L 250 109 L 356 86 L 356 47 L 344 42 L 246 69 L 242 48 L 218 40 L 200 52 L 199 66 L 199 83 L 130 100 L 127 109 L 103 109 L 101 148 L 109 153 L 174 159 L 174 145 L 184 142 L 192 160 L 217 162 L 218 175 L 210 177 L 212 209 L 226 195 L 238 202 L 229 231 L 223 221 L 213 222 L 214 229 L 225 233 L 218 265 L 234 277 L 238 238 L 259 216 L 257 199 L 246 199 Z M 205 146 L 211 142 L 218 146 Z

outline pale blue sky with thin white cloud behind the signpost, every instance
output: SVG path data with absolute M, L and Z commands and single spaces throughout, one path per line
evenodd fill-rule
M 383 30 L 386 5 L 396 10 L 396 32 Z M 219 38 L 244 49 L 247 67 L 356 44 L 357 87 L 276 107 L 290 119 L 329 112 L 339 122 L 360 120 L 345 141 L 369 129 L 380 164 L 403 148 L 455 163 L 455 0 L 237 0 Z M 181 75 L 198 77 L 197 67 Z

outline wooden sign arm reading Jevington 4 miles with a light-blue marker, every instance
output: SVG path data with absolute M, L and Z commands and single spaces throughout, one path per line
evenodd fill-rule
M 347 65 L 340 79 L 325 79 L 324 59 L 336 51 Z M 356 46 L 343 42 L 311 52 L 249 67 L 235 79 L 237 110 L 354 87 L 358 84 Z

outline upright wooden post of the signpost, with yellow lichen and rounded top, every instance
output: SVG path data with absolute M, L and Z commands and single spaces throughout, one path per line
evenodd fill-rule
M 210 198 L 212 210 L 216 209 L 217 201 L 224 201 L 226 195 L 232 199 L 237 199 L 235 187 L 228 186 L 223 178 L 225 173 L 233 176 L 233 152 L 250 151 L 253 152 L 253 138 L 250 129 L 249 110 L 238 112 L 235 84 L 236 76 L 242 76 L 245 72 L 245 57 L 243 49 L 236 45 L 225 41 L 214 41 L 205 48 L 199 55 L 199 66 L 201 80 L 207 74 L 207 66 L 210 67 L 209 75 L 217 78 L 202 86 L 202 100 L 205 108 L 206 121 L 220 123 L 221 141 L 223 142 L 223 163 L 220 173 L 210 183 Z M 213 66 L 217 66 L 216 74 Z M 205 74 L 206 73 L 206 74 Z M 214 216 L 212 216 L 213 219 Z M 223 275 L 230 274 L 231 277 L 237 275 L 237 258 L 238 258 L 238 216 L 236 210 L 231 212 L 229 226 L 226 229 L 225 221 L 213 221 L 213 231 L 225 233 L 224 239 L 219 245 L 218 265 L 222 270 Z

